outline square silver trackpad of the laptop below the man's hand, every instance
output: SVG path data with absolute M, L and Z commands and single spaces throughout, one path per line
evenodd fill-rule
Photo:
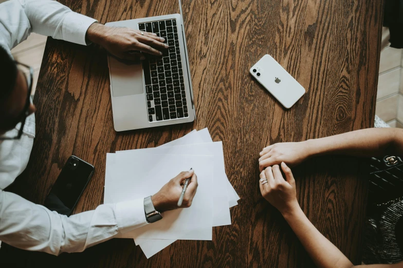
M 126 62 L 108 56 L 113 97 L 144 93 L 141 62 Z

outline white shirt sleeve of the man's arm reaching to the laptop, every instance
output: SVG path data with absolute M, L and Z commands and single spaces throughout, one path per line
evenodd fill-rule
M 85 34 L 95 22 L 56 1 L 10 0 L 0 4 L 0 45 L 11 50 L 26 40 L 31 31 L 87 45 Z

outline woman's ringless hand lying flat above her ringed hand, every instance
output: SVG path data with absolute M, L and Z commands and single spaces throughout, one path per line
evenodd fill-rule
M 286 162 L 296 166 L 310 156 L 307 142 L 283 142 L 265 147 L 259 154 L 259 170 Z

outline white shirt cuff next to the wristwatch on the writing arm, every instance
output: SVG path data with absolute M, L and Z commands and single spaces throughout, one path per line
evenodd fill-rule
M 147 224 L 144 212 L 144 199 L 119 202 L 116 204 L 116 221 L 121 234 Z

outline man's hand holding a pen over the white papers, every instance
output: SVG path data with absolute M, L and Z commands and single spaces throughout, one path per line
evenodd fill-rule
M 193 170 L 182 171 L 175 178 L 171 179 L 167 184 L 162 186 L 158 193 L 151 197 L 153 205 L 158 212 L 164 212 L 178 208 L 178 200 L 185 180 L 192 178 L 186 188 L 184 200 L 181 207 L 190 207 L 193 197 L 197 190 L 197 176 Z

